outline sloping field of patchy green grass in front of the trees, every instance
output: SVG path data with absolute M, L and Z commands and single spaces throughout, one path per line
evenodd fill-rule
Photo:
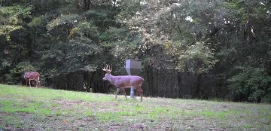
M 271 105 L 0 85 L 0 130 L 270 130 Z

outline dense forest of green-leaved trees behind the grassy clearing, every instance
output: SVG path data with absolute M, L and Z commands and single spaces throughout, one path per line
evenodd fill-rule
M 0 0 L 2 84 L 111 94 L 126 59 L 144 96 L 271 103 L 271 2 Z

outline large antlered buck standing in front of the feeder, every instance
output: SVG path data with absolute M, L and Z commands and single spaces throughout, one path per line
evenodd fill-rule
M 135 75 L 122 75 L 122 76 L 111 75 L 112 67 L 110 69 L 109 65 L 104 66 L 102 70 L 106 71 L 106 74 L 104 75 L 103 80 L 109 80 L 110 83 L 115 85 L 117 88 L 116 99 L 117 99 L 117 95 L 120 89 L 123 90 L 125 98 L 127 99 L 125 88 L 131 88 L 131 86 L 133 86 L 135 90 L 137 90 L 136 94 L 140 93 L 141 102 L 142 102 L 143 90 L 141 89 L 141 85 L 144 82 L 144 79 L 142 77 L 135 76 Z

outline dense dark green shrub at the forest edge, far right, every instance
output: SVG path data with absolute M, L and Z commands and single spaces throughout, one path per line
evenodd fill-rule
M 271 103 L 271 76 L 264 68 L 238 67 L 237 75 L 228 79 L 230 96 L 234 101 Z

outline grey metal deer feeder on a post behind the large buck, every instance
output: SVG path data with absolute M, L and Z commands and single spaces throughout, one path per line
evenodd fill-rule
M 125 69 L 128 75 L 139 75 L 141 68 L 141 60 L 127 59 Z M 134 98 L 134 87 L 131 87 L 130 97 Z

